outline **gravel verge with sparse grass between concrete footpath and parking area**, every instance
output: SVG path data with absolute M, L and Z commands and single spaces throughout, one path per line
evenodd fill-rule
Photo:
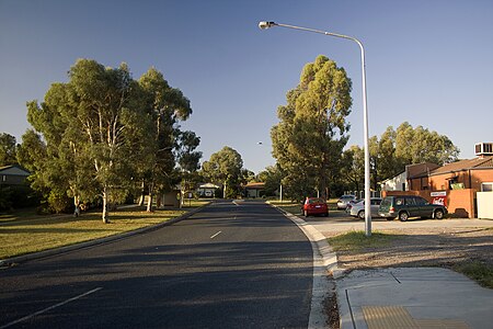
M 364 250 L 337 251 L 339 266 L 345 270 L 369 268 L 444 266 L 466 261 L 493 265 L 491 228 L 413 228 L 386 229 L 395 235 L 387 246 Z M 325 232 L 329 238 L 336 232 Z

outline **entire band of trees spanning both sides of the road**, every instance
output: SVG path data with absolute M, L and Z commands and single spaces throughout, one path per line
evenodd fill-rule
M 352 81 L 344 68 L 325 56 L 307 64 L 300 81 L 277 109 L 279 122 L 271 138 L 276 164 L 255 175 L 243 168 L 241 155 L 225 146 L 204 161 L 200 138 L 184 132 L 180 122 L 192 114 L 190 100 L 172 88 L 156 68 L 134 80 L 125 64 L 107 68 L 79 59 L 67 83 L 54 83 L 42 103 L 27 103 L 33 126 L 15 146 L 0 135 L 0 164 L 20 163 L 32 172 L 31 185 L 54 211 L 82 202 L 108 204 L 126 197 L 154 195 L 180 185 L 195 190 L 198 182 L 222 186 L 225 197 L 241 195 L 249 181 L 265 182 L 265 194 L 283 185 L 291 200 L 307 195 L 336 196 L 364 185 L 364 149 L 346 147 L 352 111 Z M 389 126 L 369 140 L 371 186 L 406 164 L 457 160 L 451 140 L 408 122 Z

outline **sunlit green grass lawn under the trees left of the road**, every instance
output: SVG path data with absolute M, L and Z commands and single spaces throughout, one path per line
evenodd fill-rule
M 145 207 L 118 209 L 110 213 L 110 223 L 103 224 L 101 213 L 31 216 L 14 214 L 0 219 L 0 259 L 73 245 L 125 231 L 156 225 L 177 217 L 187 211 L 206 204 L 193 202 L 182 209 L 157 209 L 147 213 Z

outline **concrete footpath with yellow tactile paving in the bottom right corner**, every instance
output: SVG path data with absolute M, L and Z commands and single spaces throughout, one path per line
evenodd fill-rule
M 336 280 L 341 328 L 493 328 L 493 290 L 439 268 L 357 270 Z

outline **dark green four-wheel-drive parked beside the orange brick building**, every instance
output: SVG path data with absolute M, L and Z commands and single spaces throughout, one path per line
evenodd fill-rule
M 397 217 L 401 222 L 405 222 L 410 217 L 442 219 L 447 214 L 447 208 L 444 205 L 431 204 L 416 195 L 393 195 L 382 200 L 378 214 L 388 220 Z

